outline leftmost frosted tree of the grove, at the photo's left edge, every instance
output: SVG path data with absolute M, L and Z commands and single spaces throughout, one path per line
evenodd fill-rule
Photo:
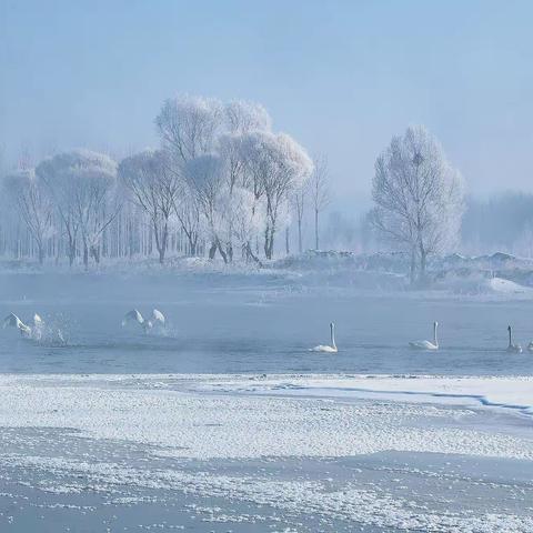
M 37 179 L 33 169 L 29 169 L 8 174 L 3 184 L 12 209 L 20 215 L 37 245 L 39 263 L 42 264 L 46 241 L 53 231 L 53 207 L 44 183 Z

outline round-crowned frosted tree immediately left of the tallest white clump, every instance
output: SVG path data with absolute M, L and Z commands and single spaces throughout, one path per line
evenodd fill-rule
M 119 180 L 132 201 L 149 217 L 159 262 L 164 262 L 172 212 L 180 195 L 179 177 L 170 169 L 169 155 L 162 150 L 145 150 L 123 159 Z

